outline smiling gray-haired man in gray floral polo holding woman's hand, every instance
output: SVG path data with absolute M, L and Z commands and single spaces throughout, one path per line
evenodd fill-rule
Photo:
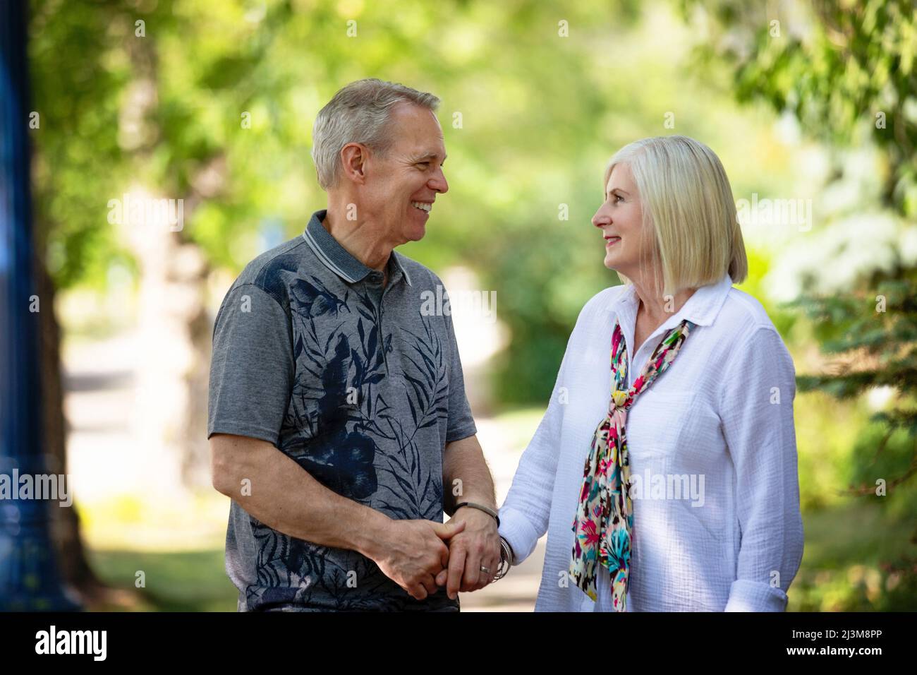
M 438 103 L 337 92 L 313 133 L 327 208 L 217 314 L 208 438 L 239 611 L 457 611 L 500 562 L 451 318 L 421 311 L 442 282 L 393 250 L 448 190 Z

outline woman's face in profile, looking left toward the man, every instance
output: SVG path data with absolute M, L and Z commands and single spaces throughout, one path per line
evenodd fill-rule
M 639 276 L 640 261 L 652 259 L 641 250 L 644 242 L 643 209 L 627 164 L 616 164 L 605 186 L 605 202 L 592 216 L 602 230 L 605 266 L 628 278 Z

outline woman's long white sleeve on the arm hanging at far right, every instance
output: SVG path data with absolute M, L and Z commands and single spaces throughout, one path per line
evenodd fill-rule
M 720 417 L 735 465 L 741 542 L 726 612 L 782 612 L 802 559 L 795 368 L 773 326 L 758 326 L 724 375 Z

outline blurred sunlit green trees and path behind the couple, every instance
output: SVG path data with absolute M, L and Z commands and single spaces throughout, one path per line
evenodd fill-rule
M 325 208 L 312 124 L 359 78 L 442 99 L 450 189 L 425 239 L 401 250 L 451 293 L 495 298 L 493 317 L 459 313 L 456 326 L 498 502 L 582 305 L 619 283 L 590 219 L 605 163 L 630 141 L 703 141 L 736 202 L 758 205 L 743 215 L 740 288 L 768 309 L 798 375 L 834 373 L 842 356 L 890 367 L 823 346 L 857 318 L 890 331 L 879 285 L 912 282 L 917 267 L 908 2 L 30 8 L 35 229 L 56 289 L 42 330 L 46 370 L 57 350 L 62 365 L 60 389 L 45 374 L 47 444 L 52 457 L 65 447 L 79 515 L 58 517 L 56 535 L 65 575 L 93 609 L 235 610 L 223 568 L 229 501 L 210 486 L 206 441 L 215 310 L 249 260 Z M 182 199 L 181 230 L 118 217 L 118 205 L 144 198 Z M 800 217 L 768 212 L 768 199 L 792 200 Z M 812 317 L 784 304 L 801 296 L 858 299 Z M 890 433 L 870 421 L 913 410 L 910 354 L 897 388 L 865 380 L 842 399 L 823 383 L 797 396 L 806 538 L 791 611 L 917 608 L 917 422 Z M 543 544 L 463 594 L 463 609 L 531 610 Z

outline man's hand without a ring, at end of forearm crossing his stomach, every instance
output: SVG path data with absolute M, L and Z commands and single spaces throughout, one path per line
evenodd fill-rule
M 449 549 L 444 541 L 464 529 L 461 522 L 392 520 L 382 530 L 370 557 L 386 577 L 416 600 L 424 600 L 438 591 L 436 574 L 446 571 Z

